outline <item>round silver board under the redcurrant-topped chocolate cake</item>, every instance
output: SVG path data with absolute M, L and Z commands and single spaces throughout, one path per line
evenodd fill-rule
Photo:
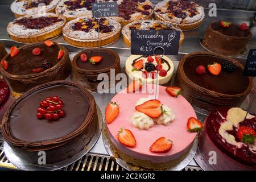
M 96 144 L 98 138 L 100 137 L 101 130 L 102 130 L 102 114 L 100 108 L 97 106 L 97 115 L 98 115 L 98 123 L 96 133 L 91 138 L 90 142 L 84 147 L 84 150 L 80 151 L 76 155 L 72 156 L 69 159 L 63 160 L 59 163 L 55 164 L 46 164 L 46 165 L 39 165 L 39 164 L 30 164 L 26 161 L 26 159 L 22 159 L 19 156 L 19 150 L 17 147 L 10 146 L 7 142 L 3 143 L 3 150 L 5 151 L 5 155 L 7 159 L 12 163 L 15 167 L 26 170 L 26 171 L 53 171 L 63 167 L 68 166 L 79 160 L 84 155 L 86 155 Z

